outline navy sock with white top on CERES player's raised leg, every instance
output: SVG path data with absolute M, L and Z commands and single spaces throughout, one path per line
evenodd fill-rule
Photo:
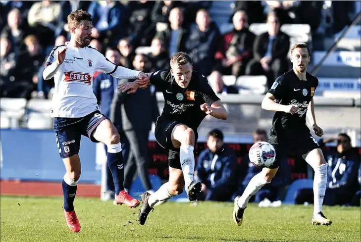
M 115 145 L 108 145 L 107 162 L 111 175 L 113 176 L 115 195 L 124 190 L 124 167 L 123 154 L 120 143 Z

